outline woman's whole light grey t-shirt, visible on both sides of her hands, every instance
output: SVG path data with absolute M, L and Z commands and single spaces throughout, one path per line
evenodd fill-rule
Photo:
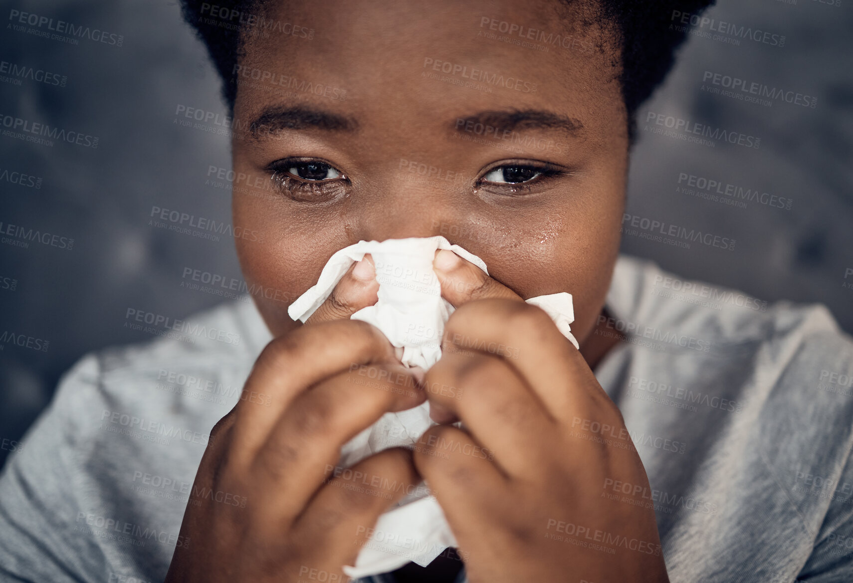
M 853 339 L 827 309 L 630 257 L 606 306 L 604 333 L 629 341 L 595 375 L 646 468 L 670 580 L 853 581 Z M 164 338 L 85 356 L 4 468 L 3 580 L 160 581 L 194 544 L 179 530 L 209 432 L 270 333 L 247 297 L 141 326 Z

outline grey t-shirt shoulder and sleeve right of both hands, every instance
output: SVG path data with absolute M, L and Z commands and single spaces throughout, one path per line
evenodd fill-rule
M 826 306 L 764 303 L 620 257 L 607 307 L 629 342 L 602 386 L 629 430 L 687 445 L 676 465 L 638 447 L 653 488 L 719 509 L 659 513 L 670 556 L 694 559 L 675 561 L 692 565 L 682 574 L 851 580 L 853 338 Z M 697 528 L 715 544 L 682 535 Z M 712 566 L 728 554 L 749 558 Z

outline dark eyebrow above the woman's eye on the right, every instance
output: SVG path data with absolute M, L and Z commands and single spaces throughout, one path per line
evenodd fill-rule
M 478 112 L 456 118 L 450 126 L 454 131 L 479 134 L 485 131 L 485 135 L 523 130 L 560 130 L 572 137 L 583 134 L 583 123 L 579 119 L 540 109 Z

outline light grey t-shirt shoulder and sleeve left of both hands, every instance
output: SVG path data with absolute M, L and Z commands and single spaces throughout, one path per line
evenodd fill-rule
M 270 339 L 238 301 L 86 355 L 0 476 L 0 574 L 162 580 L 210 430 Z M 258 397 L 263 398 L 263 396 Z

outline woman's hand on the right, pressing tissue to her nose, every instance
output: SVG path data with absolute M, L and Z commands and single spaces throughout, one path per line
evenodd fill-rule
M 415 447 L 472 583 L 668 581 L 646 470 L 616 405 L 542 310 L 439 251 L 456 307 Z

